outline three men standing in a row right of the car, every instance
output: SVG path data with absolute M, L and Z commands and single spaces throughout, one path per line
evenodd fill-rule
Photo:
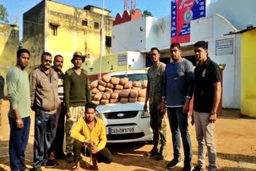
M 150 125 L 153 129 L 153 149 L 147 153 L 148 157 L 162 160 L 166 157 L 166 121 L 170 122 L 174 158 L 167 165 L 174 169 L 181 165 L 181 138 L 184 151 L 183 171 L 203 171 L 206 169 L 205 157 L 208 150 L 208 170 L 216 167 L 216 149 L 214 145 L 214 122 L 217 118 L 218 104 L 221 99 L 221 79 L 218 65 L 208 57 L 207 42 L 194 44 L 194 54 L 197 65 L 186 58 L 182 58 L 182 48 L 178 43 L 170 46 L 172 62 L 165 65 L 159 61 L 160 51 L 152 48 L 150 58 L 153 66 L 148 70 L 148 86 L 144 110 L 148 109 L 150 99 Z M 192 165 L 192 149 L 188 129 L 190 100 L 194 94 L 194 115 L 192 125 L 195 125 L 198 141 L 198 163 Z

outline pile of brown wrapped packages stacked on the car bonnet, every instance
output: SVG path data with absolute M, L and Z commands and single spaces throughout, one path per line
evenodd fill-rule
M 108 103 L 145 102 L 147 81 L 131 82 L 129 78 L 103 75 L 102 80 L 90 83 L 92 102 L 95 105 Z

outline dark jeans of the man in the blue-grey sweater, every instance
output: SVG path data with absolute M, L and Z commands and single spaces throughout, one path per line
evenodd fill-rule
M 172 133 L 174 159 L 181 160 L 181 135 L 185 156 L 184 164 L 190 165 L 192 161 L 192 148 L 188 129 L 188 114 L 182 113 L 182 107 L 167 108 L 167 112 L 170 121 L 170 130 Z

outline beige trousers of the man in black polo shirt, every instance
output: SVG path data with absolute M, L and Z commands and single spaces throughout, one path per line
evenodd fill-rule
M 198 141 L 198 165 L 206 167 L 206 147 L 208 151 L 208 170 L 214 171 L 216 166 L 216 148 L 214 143 L 214 123 L 209 122 L 210 113 L 194 111 L 195 133 Z

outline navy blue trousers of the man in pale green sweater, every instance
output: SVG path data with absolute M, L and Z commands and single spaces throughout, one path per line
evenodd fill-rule
M 14 171 L 25 170 L 25 152 L 26 145 L 30 135 L 30 117 L 22 118 L 24 127 L 17 128 L 16 119 L 9 117 L 10 124 L 10 141 L 9 156 L 10 169 Z

